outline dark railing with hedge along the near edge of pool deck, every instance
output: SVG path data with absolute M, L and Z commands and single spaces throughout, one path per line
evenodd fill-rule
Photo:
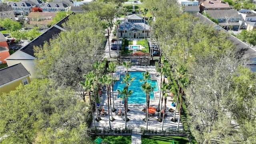
M 120 129 L 114 128 L 111 130 L 107 129 L 90 129 L 89 134 L 91 135 L 156 135 L 156 136 L 187 136 L 187 131 L 184 130 L 131 130 L 131 129 Z

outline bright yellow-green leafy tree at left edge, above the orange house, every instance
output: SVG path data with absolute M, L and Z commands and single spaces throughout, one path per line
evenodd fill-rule
M 16 30 L 20 30 L 21 29 L 21 25 L 19 22 L 13 21 L 10 18 L 4 18 L 4 19 L 0 19 L 0 25 L 5 28 L 8 33 L 10 34 L 10 32 L 14 32 Z

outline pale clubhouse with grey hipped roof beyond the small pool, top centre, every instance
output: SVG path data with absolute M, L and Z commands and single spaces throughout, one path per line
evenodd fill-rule
M 119 26 L 119 36 L 120 38 L 124 37 L 124 27 L 125 27 L 125 37 L 126 38 L 144 38 L 144 28 L 146 30 L 146 38 L 150 37 L 150 31 L 148 23 L 146 22 L 146 26 L 144 27 L 144 19 L 142 16 L 132 14 L 127 16 L 125 20 L 122 20 Z

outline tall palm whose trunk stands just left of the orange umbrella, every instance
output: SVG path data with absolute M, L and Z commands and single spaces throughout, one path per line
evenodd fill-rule
M 142 90 L 146 93 L 146 104 L 147 104 L 147 109 L 146 109 L 146 130 L 148 129 L 148 110 L 149 110 L 149 103 L 150 103 L 150 93 L 154 91 L 155 86 L 151 86 L 151 82 L 145 82 L 142 84 Z

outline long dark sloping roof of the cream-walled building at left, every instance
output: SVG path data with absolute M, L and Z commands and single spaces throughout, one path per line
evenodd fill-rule
M 68 15 L 69 16 L 69 15 Z M 44 42 L 49 42 L 50 39 L 53 38 L 54 35 L 59 34 L 63 29 L 62 23 L 66 22 L 68 20 L 68 16 L 63 18 L 60 22 L 46 30 L 43 34 L 32 40 L 30 43 L 28 43 L 26 46 L 20 49 L 20 51 L 25 52 L 26 54 L 29 54 L 31 56 L 34 56 L 34 46 L 43 46 Z

